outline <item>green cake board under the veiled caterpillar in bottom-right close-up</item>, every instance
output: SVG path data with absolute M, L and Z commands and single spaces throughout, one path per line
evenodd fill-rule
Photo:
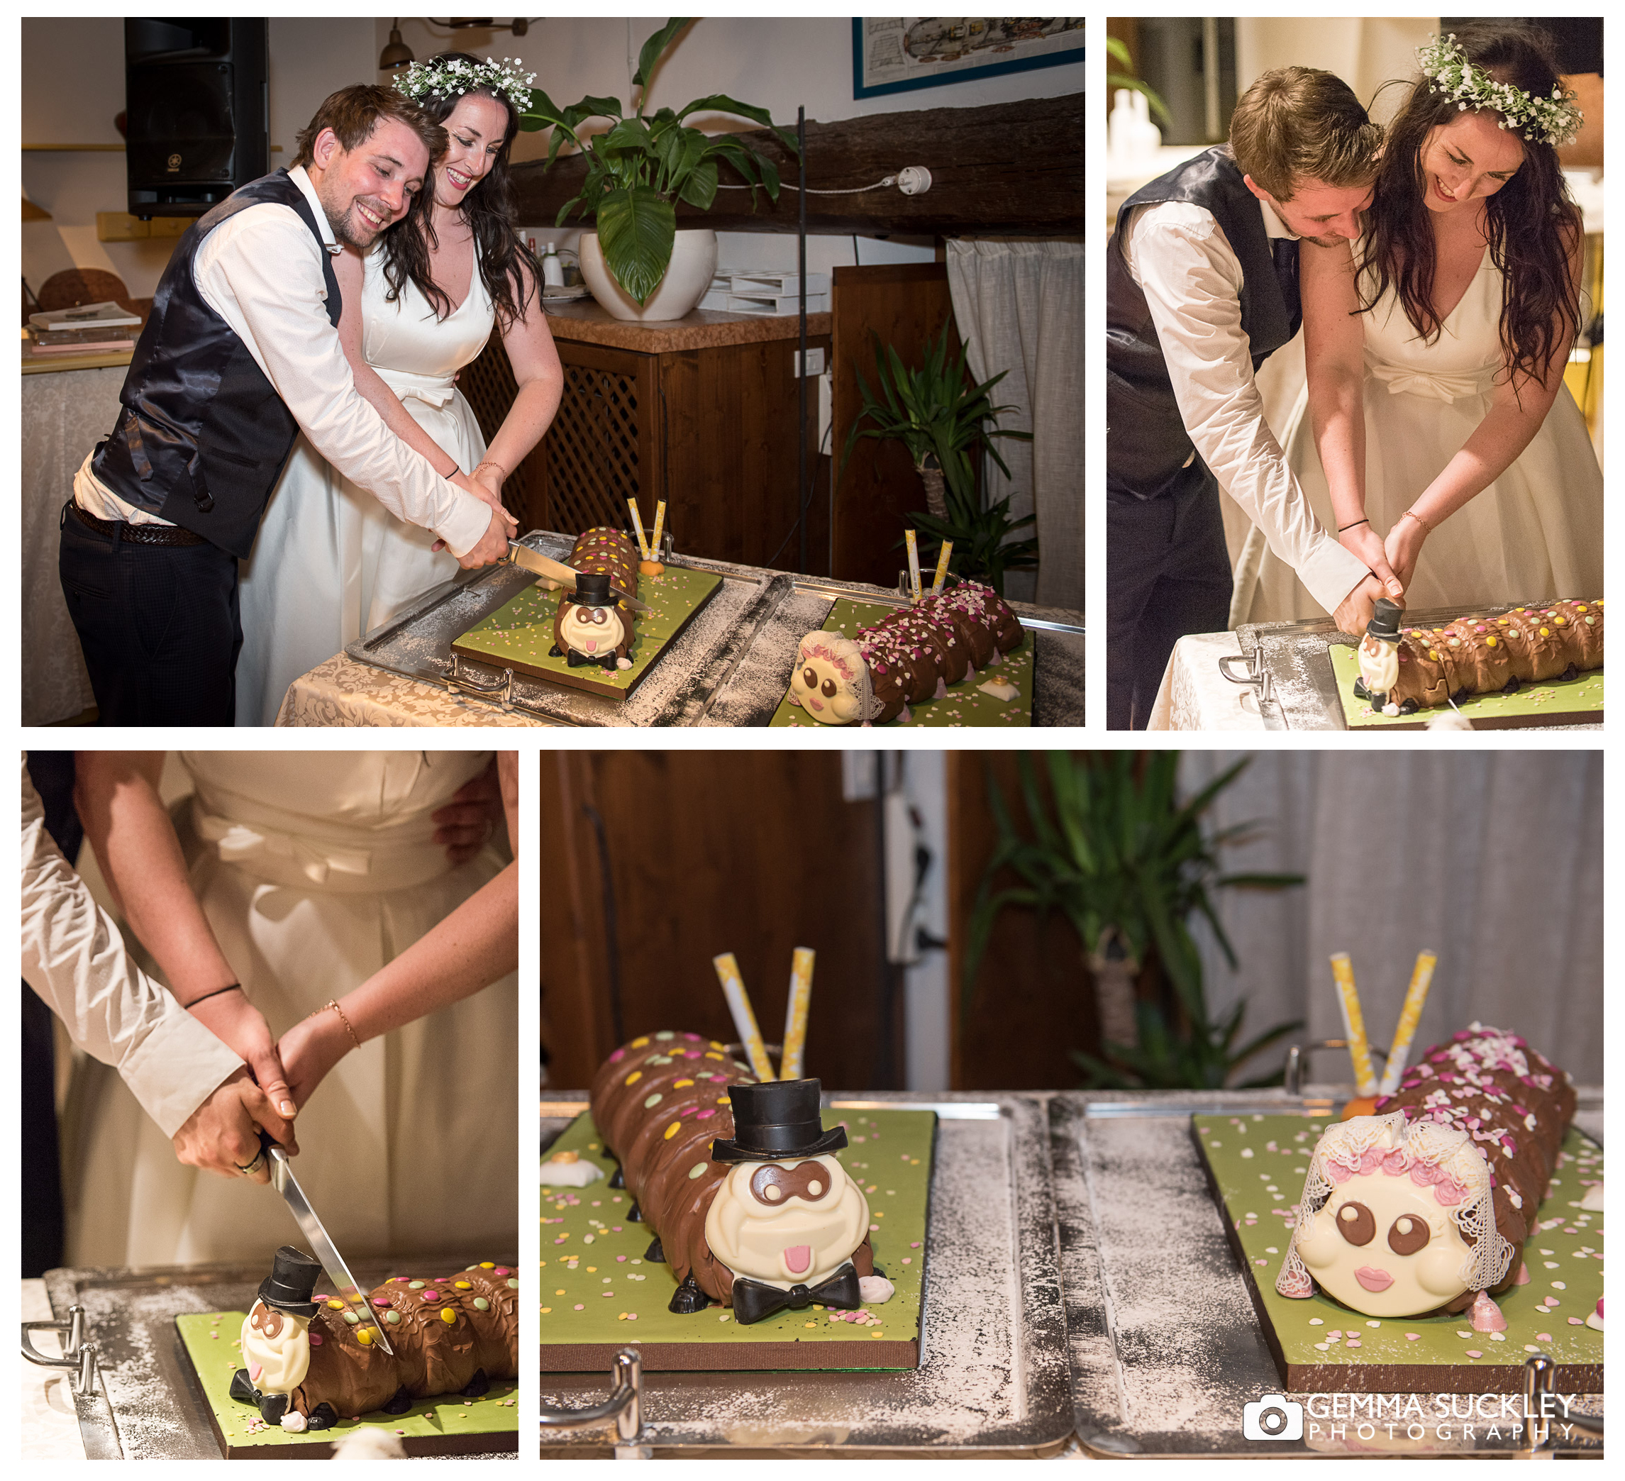
M 1583 1210 L 1580 1200 L 1602 1180 L 1602 1148 L 1570 1128 L 1552 1192 L 1524 1240 L 1529 1281 L 1495 1297 L 1506 1331 L 1488 1333 L 1474 1331 L 1464 1312 L 1375 1318 L 1349 1310 L 1320 1288 L 1306 1301 L 1277 1294 L 1276 1276 L 1292 1236 L 1290 1210 L 1303 1192 L 1310 1153 L 1332 1120 L 1305 1114 L 1191 1117 L 1230 1247 L 1287 1388 L 1521 1393 L 1524 1359 L 1545 1353 L 1557 1362 L 1560 1393 L 1601 1393 L 1602 1333 L 1584 1318 L 1602 1296 L 1602 1214 Z M 1545 1297 L 1557 1305 L 1542 1307 Z M 1352 1351 L 1350 1336 L 1360 1341 Z

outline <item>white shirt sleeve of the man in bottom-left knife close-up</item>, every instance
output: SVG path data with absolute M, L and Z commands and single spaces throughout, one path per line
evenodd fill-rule
M 23 754 L 23 979 L 68 1037 L 112 1065 L 166 1136 L 242 1068 L 132 959 L 50 834 Z

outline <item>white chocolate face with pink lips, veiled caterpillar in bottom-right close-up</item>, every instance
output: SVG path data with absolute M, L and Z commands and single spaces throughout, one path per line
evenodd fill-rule
M 1367 1317 L 1414 1317 L 1467 1289 L 1472 1255 L 1432 1187 L 1388 1172 L 1344 1179 L 1298 1255 L 1328 1296 Z

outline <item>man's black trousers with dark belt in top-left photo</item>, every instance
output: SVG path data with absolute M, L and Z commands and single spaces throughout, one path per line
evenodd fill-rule
M 102 725 L 236 722 L 236 556 L 216 545 L 132 545 L 63 506 L 57 571 Z

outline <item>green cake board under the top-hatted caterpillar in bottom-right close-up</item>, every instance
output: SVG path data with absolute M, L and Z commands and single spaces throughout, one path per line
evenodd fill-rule
M 842 1166 L 869 1201 L 874 1263 L 897 1286 L 884 1305 L 863 1307 L 876 1322 L 834 1320 L 819 1305 L 749 1327 L 718 1305 L 692 1315 L 666 1310 L 676 1291 L 671 1266 L 644 1258 L 655 1231 L 627 1223 L 630 1197 L 608 1185 L 616 1162 L 583 1112 L 548 1154 L 574 1151 L 604 1177 L 585 1188 L 541 1185 L 541 1370 L 601 1372 L 627 1343 L 645 1369 L 665 1372 L 918 1367 L 936 1112 L 824 1112 L 826 1127 L 837 1122 L 848 1138 Z

